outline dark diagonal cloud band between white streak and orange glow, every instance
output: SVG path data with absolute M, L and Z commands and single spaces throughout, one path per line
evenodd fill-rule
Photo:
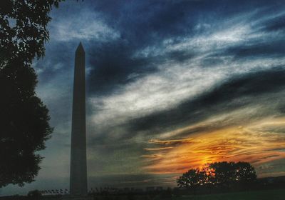
M 282 67 L 268 71 L 257 71 L 243 76 L 231 78 L 224 83 L 214 86 L 195 99 L 183 102 L 174 109 L 160 111 L 130 122 L 135 131 L 159 130 L 181 124 L 192 124 L 209 116 L 223 114 L 250 104 L 257 104 L 258 96 L 271 95 L 285 89 L 285 70 Z M 244 97 L 250 97 L 244 99 Z M 241 101 L 233 101 L 242 99 Z M 281 111 L 281 110 L 280 110 Z M 239 123 L 239 122 L 238 122 Z M 224 124 L 227 126 L 228 124 Z M 205 131 L 205 127 L 193 129 L 192 132 Z M 212 129 L 212 127 L 208 127 Z M 154 133 L 150 131 L 150 133 Z M 187 134 L 190 134 L 188 131 Z

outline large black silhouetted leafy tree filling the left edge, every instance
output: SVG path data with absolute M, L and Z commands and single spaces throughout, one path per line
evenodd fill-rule
M 33 181 L 42 159 L 36 151 L 51 136 L 31 63 L 44 55 L 48 14 L 60 1 L 0 1 L 0 187 Z

